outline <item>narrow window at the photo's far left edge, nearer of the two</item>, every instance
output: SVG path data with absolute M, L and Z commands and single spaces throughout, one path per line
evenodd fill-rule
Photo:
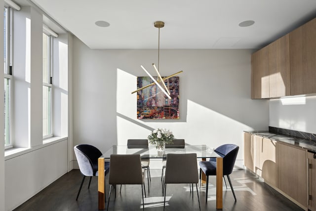
M 12 82 L 12 72 L 11 72 L 11 65 L 9 62 L 9 51 L 10 51 L 10 44 L 9 44 L 9 14 L 10 9 L 9 7 L 4 6 L 3 10 L 4 14 L 4 23 L 3 23 L 3 31 L 4 31 L 4 51 L 3 51 L 3 60 L 4 60 L 4 147 L 9 148 L 12 147 L 12 138 L 11 138 L 11 82 Z

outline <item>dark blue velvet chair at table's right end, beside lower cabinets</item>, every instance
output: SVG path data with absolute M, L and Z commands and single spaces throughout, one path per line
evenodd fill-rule
M 239 147 L 235 144 L 224 144 L 215 149 L 215 151 L 223 158 L 223 177 L 226 175 L 231 186 L 235 201 L 236 195 L 233 189 L 231 178 L 229 175 L 232 173 L 237 158 Z M 206 203 L 207 203 L 207 192 L 208 192 L 208 176 L 216 175 L 216 158 L 210 158 L 209 161 L 199 162 L 199 179 L 201 179 L 202 171 L 206 175 Z M 224 177 L 225 180 L 225 177 Z M 226 181 L 225 181 L 226 184 Z M 227 186 L 226 186 L 227 188 Z

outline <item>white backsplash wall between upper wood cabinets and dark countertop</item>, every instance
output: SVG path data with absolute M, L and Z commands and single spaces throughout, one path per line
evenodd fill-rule
M 269 126 L 316 133 L 316 96 L 273 99 Z

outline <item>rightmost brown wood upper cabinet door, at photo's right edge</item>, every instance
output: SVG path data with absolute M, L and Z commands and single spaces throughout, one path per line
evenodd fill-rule
M 316 19 L 290 33 L 291 95 L 316 93 Z

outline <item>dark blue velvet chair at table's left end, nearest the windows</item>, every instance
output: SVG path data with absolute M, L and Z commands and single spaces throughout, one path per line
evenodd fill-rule
M 79 169 L 83 175 L 76 201 L 78 200 L 82 184 L 86 176 L 90 177 L 88 188 L 90 187 L 92 176 L 98 176 L 98 158 L 102 155 L 99 149 L 89 144 L 80 144 L 74 147 Z M 104 175 L 107 175 L 110 169 L 110 162 L 104 164 Z

